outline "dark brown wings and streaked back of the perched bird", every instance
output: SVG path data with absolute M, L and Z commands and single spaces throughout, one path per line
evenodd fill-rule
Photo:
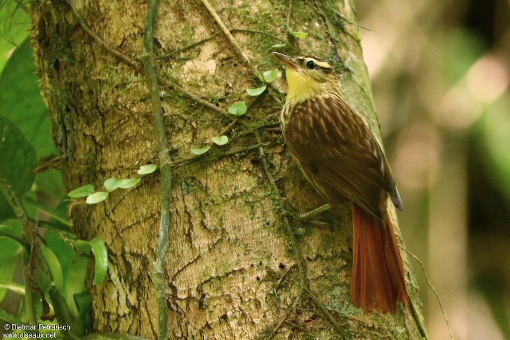
M 349 198 L 381 219 L 388 192 L 401 210 L 384 152 L 363 119 L 341 98 L 322 96 L 298 104 L 284 135 L 307 175 L 327 191 Z

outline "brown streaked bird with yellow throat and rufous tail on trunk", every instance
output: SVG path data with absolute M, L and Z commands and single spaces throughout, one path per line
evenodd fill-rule
M 304 176 L 331 206 L 352 201 L 350 298 L 364 313 L 409 305 L 388 197 L 403 205 L 395 177 L 366 118 L 342 97 L 339 77 L 315 57 L 273 52 L 288 92 L 280 115 L 285 143 Z

